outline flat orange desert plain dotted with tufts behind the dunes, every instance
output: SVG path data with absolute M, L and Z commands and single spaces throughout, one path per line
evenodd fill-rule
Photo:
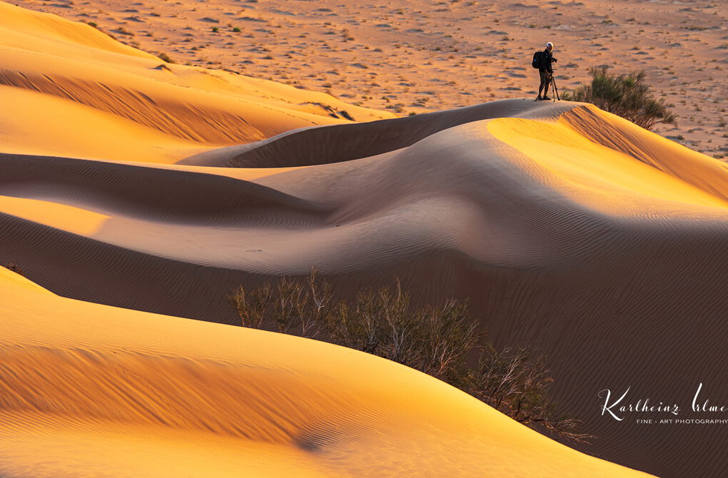
M 41 1 L 179 63 L 331 92 L 400 115 L 535 97 L 531 54 L 556 45 L 561 92 L 588 68 L 645 70 L 678 124 L 661 135 L 728 155 L 728 6 L 720 1 Z M 235 30 L 236 28 L 240 31 Z

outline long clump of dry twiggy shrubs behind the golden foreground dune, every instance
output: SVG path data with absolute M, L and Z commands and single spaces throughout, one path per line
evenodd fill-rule
M 579 421 L 555 412 L 547 397 L 553 378 L 545 357 L 529 348 L 499 351 L 483 343 L 467 301 L 416 308 L 398 279 L 393 288 L 337 299 L 315 267 L 305 278 L 281 277 L 253 290 L 239 286 L 228 299 L 243 327 L 378 355 L 446 381 L 533 428 L 579 442 L 591 437 L 577 431 Z M 473 354 L 478 359 L 469 365 Z

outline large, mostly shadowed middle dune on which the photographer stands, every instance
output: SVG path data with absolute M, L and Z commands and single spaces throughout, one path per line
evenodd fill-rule
M 632 386 L 689 407 L 703 381 L 728 402 L 724 164 L 591 105 L 529 100 L 207 160 L 250 167 L 3 154 L 0 260 L 67 297 L 229 323 L 237 284 L 314 264 L 344 294 L 399 276 L 417 301 L 469 297 L 497 345 L 543 351 L 559 410 L 599 437 L 589 453 L 662 477 L 728 466 L 718 427 L 658 433 L 597 397 Z

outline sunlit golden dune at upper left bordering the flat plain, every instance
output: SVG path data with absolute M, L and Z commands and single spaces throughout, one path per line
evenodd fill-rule
M 322 92 L 165 63 L 85 23 L 4 2 L 0 33 L 6 153 L 169 163 L 211 146 L 349 122 L 336 111 L 358 121 L 394 116 Z

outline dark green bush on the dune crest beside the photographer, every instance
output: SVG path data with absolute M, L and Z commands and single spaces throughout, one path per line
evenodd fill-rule
M 665 100 L 653 97 L 649 85 L 644 82 L 644 71 L 617 75 L 606 70 L 604 65 L 591 68 L 591 83 L 577 87 L 573 92 L 564 92 L 563 99 L 593 103 L 646 130 L 657 123 L 675 123 L 675 115 Z

